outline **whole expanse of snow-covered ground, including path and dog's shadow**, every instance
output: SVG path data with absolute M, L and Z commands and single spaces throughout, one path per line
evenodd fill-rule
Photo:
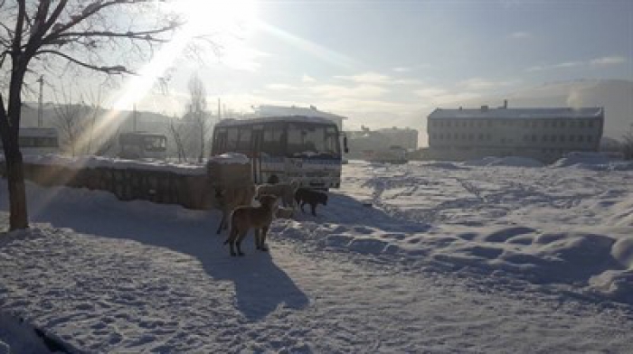
M 628 353 L 631 181 L 586 156 L 351 162 L 239 258 L 217 211 L 28 184 L 32 228 L 0 235 L 0 353 L 48 352 L 33 328 L 70 352 Z

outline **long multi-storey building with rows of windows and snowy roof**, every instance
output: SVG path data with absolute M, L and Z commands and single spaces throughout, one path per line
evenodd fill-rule
M 545 163 L 572 151 L 598 151 L 604 109 L 508 108 L 434 110 L 428 119 L 430 159 L 524 156 Z

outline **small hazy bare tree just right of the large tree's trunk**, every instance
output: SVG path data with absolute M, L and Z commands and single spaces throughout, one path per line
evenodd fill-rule
M 69 89 L 69 93 L 65 89 L 61 89 L 62 100 L 56 99 L 55 111 L 55 126 L 60 129 L 61 134 L 64 135 L 64 140 L 68 144 L 67 148 L 71 153 L 71 156 L 77 154 L 77 144 L 79 143 L 79 137 L 84 130 L 83 116 L 86 112 L 85 107 L 80 104 L 72 102 L 72 93 Z

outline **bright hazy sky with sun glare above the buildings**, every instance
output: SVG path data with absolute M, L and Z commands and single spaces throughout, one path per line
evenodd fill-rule
M 545 82 L 633 79 L 631 0 L 180 3 L 222 55 L 176 59 L 169 95 L 140 109 L 182 112 L 193 72 L 213 108 L 314 105 L 376 127 Z

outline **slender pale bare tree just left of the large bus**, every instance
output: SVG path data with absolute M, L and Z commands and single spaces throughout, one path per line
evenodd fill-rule
M 203 81 L 194 75 L 189 79 L 189 94 L 191 95 L 185 118 L 192 123 L 196 136 L 196 145 L 199 148 L 198 162 L 203 162 L 204 141 L 209 132 L 209 112 L 207 111 L 206 89 Z

